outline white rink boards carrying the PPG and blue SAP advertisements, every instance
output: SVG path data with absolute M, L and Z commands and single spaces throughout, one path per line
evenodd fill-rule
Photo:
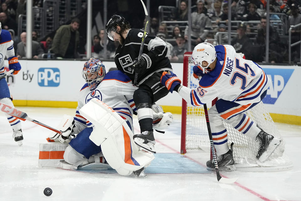
M 8 67 L 7 60 L 5 61 Z M 85 84 L 82 67 L 85 61 L 34 61 L 20 60 L 22 69 L 17 75 L 7 77 L 15 100 L 74 101 Z M 106 70 L 114 68 L 114 62 L 103 62 Z M 263 99 L 271 113 L 301 116 L 301 67 L 261 65 L 272 80 Z M 174 73 L 182 80 L 183 64 L 172 63 Z M 157 104 L 182 106 L 182 98 L 170 93 Z

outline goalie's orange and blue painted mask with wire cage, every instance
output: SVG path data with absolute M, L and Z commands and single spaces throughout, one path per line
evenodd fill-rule
M 88 83 L 90 91 L 96 89 L 105 75 L 106 69 L 99 59 L 90 58 L 87 62 L 85 62 L 84 68 L 82 69 L 82 77 Z

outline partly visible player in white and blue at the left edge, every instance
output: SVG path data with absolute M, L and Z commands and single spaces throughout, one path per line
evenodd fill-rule
M 9 70 L 14 69 L 12 74 L 17 74 L 21 70 L 21 65 L 18 62 L 18 57 L 15 56 L 15 50 L 13 48 L 13 41 L 9 31 L 1 29 L 0 22 L 0 76 L 5 73 L 4 58 L 8 58 Z M 6 79 L 0 80 L 0 102 L 3 102 L 9 106 L 13 106 L 13 98 L 10 95 L 8 84 Z M 13 129 L 13 139 L 18 142 L 19 146 L 22 145 L 23 135 L 21 130 L 20 120 L 5 113 L 5 116 Z

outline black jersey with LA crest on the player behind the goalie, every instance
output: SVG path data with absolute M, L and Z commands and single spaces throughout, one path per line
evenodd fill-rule
M 141 29 L 130 29 L 123 45 L 119 45 L 115 53 L 116 67 L 128 75 L 132 81 L 135 79 L 132 63 L 139 55 L 143 32 Z M 172 69 L 170 61 L 166 57 L 167 45 L 159 37 L 146 34 L 142 53 L 150 57 L 151 66 L 145 72 L 138 74 L 139 84 L 154 72 Z

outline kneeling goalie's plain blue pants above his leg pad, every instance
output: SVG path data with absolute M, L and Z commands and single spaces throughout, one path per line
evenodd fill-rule
M 71 139 L 69 143 L 73 149 L 84 155 L 86 158 L 101 152 L 101 147 L 97 146 L 89 139 L 92 130 L 92 127 L 83 129 L 75 138 Z

